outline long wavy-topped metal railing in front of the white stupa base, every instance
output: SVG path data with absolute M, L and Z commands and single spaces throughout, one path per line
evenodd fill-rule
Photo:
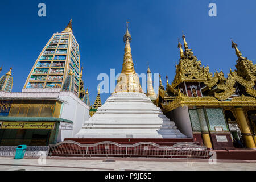
M 64 141 L 49 144 L 48 156 L 122 156 L 122 157 L 163 157 L 163 158 L 208 158 L 207 147 L 181 142 L 173 146 L 159 146 L 151 142 L 122 145 L 115 142 L 80 144 Z

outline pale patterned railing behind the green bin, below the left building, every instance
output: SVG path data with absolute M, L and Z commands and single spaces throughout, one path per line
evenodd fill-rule
M 17 146 L 0 146 L 0 156 L 14 157 Z M 39 151 L 48 151 L 48 146 L 27 146 L 24 156 L 40 156 Z

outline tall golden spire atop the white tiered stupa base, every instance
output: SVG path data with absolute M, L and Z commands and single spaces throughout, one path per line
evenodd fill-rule
M 139 84 L 139 77 L 137 76 L 133 59 L 131 56 L 131 34 L 128 30 L 128 21 L 126 21 L 126 32 L 123 36 L 125 43 L 125 54 L 123 55 L 123 68 L 121 75 L 118 78 L 115 92 L 142 92 L 141 85 Z

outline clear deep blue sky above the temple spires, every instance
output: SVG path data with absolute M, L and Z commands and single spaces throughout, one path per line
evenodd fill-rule
M 46 17 L 38 16 L 38 4 L 46 3 Z M 217 4 L 217 17 L 208 16 L 210 2 Z M 230 38 L 243 56 L 256 59 L 256 1 L 228 0 L 116 0 L 116 1 L 0 1 L 1 74 L 13 67 L 13 92 L 20 92 L 36 58 L 55 32 L 61 32 L 73 19 L 73 34 L 80 44 L 85 88 L 90 102 L 97 95 L 99 73 L 110 68 L 121 72 L 122 42 L 126 19 L 130 20 L 131 51 L 135 71 L 146 72 L 147 61 L 153 73 L 175 75 L 179 61 L 177 38 L 182 31 L 189 48 L 210 71 L 235 69 L 237 57 Z M 165 84 L 164 84 L 165 85 Z M 102 94 L 105 102 L 109 94 Z

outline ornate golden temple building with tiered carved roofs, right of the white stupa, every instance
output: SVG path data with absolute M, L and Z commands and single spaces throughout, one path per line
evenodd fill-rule
M 242 57 L 232 40 L 238 60 L 236 70 L 209 72 L 189 49 L 183 35 L 184 51 L 179 42 L 179 64 L 172 84 L 160 86 L 156 105 L 181 132 L 202 145 L 229 149 L 240 141 L 256 148 L 256 65 Z M 168 78 L 168 77 L 167 77 Z

